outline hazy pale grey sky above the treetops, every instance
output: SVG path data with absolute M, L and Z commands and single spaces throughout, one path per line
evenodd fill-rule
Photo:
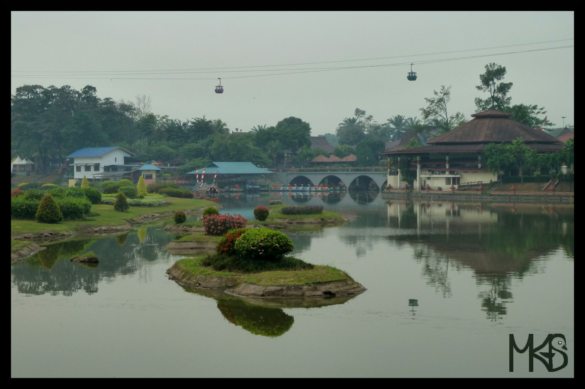
M 512 104 L 545 107 L 561 127 L 562 116 L 574 124 L 574 48 L 539 49 L 573 38 L 574 12 L 12 12 L 11 94 L 92 85 L 99 98 L 150 96 L 152 112 L 171 119 L 248 131 L 295 116 L 316 136 L 356 107 L 378 123 L 420 118 L 441 85 L 452 87 L 448 110 L 470 120 L 474 99 L 488 96 L 479 75 L 495 62 L 514 84 Z M 503 54 L 526 50 L 539 51 Z M 477 55 L 487 56 L 421 63 Z M 417 81 L 406 78 L 411 62 Z M 339 67 L 354 68 L 326 70 Z

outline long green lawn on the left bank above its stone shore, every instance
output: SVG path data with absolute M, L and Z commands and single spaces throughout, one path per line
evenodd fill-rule
M 168 211 L 201 209 L 215 204 L 209 200 L 179 199 L 176 197 L 166 197 L 166 201 L 171 202 L 172 204 L 166 207 L 130 207 L 127 212 L 115 211 L 113 209 L 113 205 L 95 204 L 91 206 L 91 212 L 98 213 L 99 216 L 92 216 L 91 220 L 88 221 L 61 221 L 60 223 L 47 224 L 39 223 L 36 220 L 11 220 L 11 233 L 19 234 L 23 232 L 34 232 L 42 230 L 75 231 L 75 229 L 78 227 L 123 225 L 128 223 L 124 219 L 132 219 L 136 216 L 147 213 L 164 213 Z

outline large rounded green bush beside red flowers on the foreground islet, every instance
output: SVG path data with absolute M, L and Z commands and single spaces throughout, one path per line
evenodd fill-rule
M 280 231 L 252 228 L 236 239 L 236 253 L 248 258 L 278 261 L 293 249 L 291 239 Z

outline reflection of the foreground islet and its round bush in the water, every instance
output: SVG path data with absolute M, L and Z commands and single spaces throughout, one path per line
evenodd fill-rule
M 254 298 L 236 297 L 222 290 L 193 289 L 179 284 L 188 293 L 195 293 L 217 301 L 218 310 L 233 325 L 242 327 L 250 334 L 276 338 L 287 332 L 294 318 L 281 308 L 316 308 L 343 304 L 356 296 L 333 298 Z

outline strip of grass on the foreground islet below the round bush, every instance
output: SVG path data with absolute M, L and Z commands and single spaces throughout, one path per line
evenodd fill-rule
M 201 266 L 200 262 L 202 259 L 202 257 L 181 259 L 180 261 L 177 261 L 177 265 L 188 272 L 189 277 L 192 276 L 193 278 L 197 276 L 241 276 L 242 282 L 259 285 L 295 285 L 310 282 L 345 280 L 347 278 L 352 279 L 339 269 L 331 266 L 317 265 L 315 265 L 314 269 L 308 270 L 276 270 L 249 274 L 218 272 L 211 268 Z

